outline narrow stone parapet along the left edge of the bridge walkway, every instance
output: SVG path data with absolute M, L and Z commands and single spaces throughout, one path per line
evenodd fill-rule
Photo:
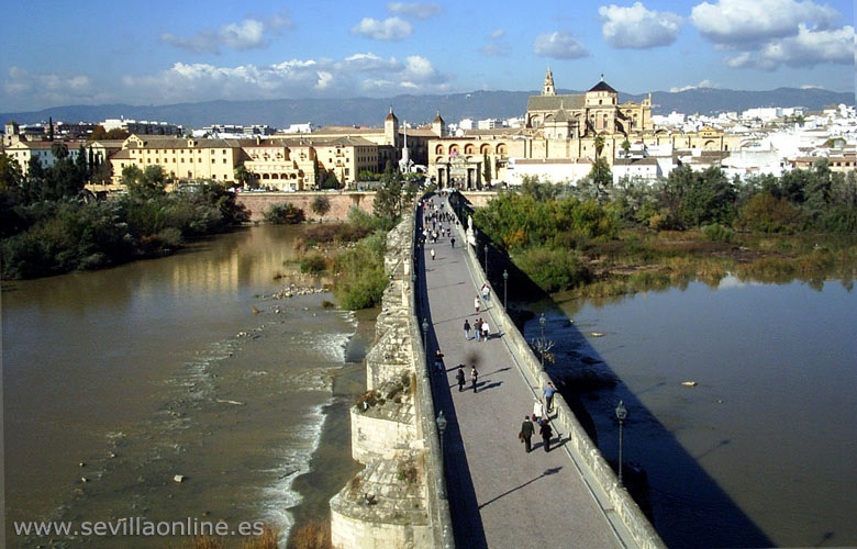
M 419 202 L 418 202 L 419 204 Z M 409 272 L 415 274 L 416 271 L 416 227 L 418 219 L 421 215 L 420 206 L 414 211 L 413 224 L 411 226 L 411 254 Z M 414 411 L 418 417 L 420 434 L 425 441 L 425 475 L 427 483 L 429 498 L 429 519 L 432 524 L 434 537 L 433 547 L 443 547 L 452 549 L 455 547 L 453 538 L 453 518 L 449 514 L 449 501 L 446 497 L 446 478 L 444 475 L 444 462 L 441 446 L 441 438 L 435 423 L 435 405 L 431 385 L 431 372 L 426 360 L 426 350 L 423 347 L 423 334 L 421 333 L 420 322 L 422 320 L 422 303 L 418 301 L 419 277 L 408 277 L 411 294 L 411 315 L 409 326 L 411 332 L 411 341 L 413 341 L 413 363 L 416 371 L 416 397 Z

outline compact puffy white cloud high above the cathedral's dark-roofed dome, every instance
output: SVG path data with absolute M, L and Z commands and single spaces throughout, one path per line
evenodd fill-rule
M 611 4 L 598 9 L 601 34 L 613 47 L 638 48 L 668 46 L 676 42 L 683 24 L 679 15 L 647 10 L 642 2 L 630 8 Z

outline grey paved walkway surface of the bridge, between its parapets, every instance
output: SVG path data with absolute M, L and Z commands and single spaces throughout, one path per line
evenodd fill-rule
M 435 195 L 435 203 L 439 199 Z M 445 210 L 448 211 L 448 203 Z M 556 436 L 545 452 L 536 433 L 526 453 L 517 440 L 534 392 L 512 360 L 502 334 L 493 333 L 494 296 L 479 316 L 488 318 L 488 341 L 465 340 L 465 318 L 474 323 L 478 288 L 461 249 L 448 238 L 425 245 L 420 257 L 422 295 L 427 288 L 429 354 L 438 345 L 445 370 L 435 371 L 437 405 L 449 421 L 444 437 L 449 507 L 460 548 L 623 547 Z M 433 260 L 430 250 L 434 248 Z M 425 306 L 423 306 L 425 311 Z M 467 365 L 467 390 L 458 392 L 456 365 Z M 470 389 L 470 365 L 479 371 Z M 559 442 L 559 447 L 554 447 Z

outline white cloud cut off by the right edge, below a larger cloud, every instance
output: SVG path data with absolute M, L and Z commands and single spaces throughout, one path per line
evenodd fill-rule
M 811 31 L 801 24 L 797 36 L 775 40 L 753 55 L 743 52 L 725 63 L 733 68 L 773 70 L 782 65 L 812 67 L 822 63 L 854 64 L 855 34 L 853 26 L 830 31 Z

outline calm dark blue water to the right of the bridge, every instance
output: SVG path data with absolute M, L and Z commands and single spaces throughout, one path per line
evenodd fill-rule
M 580 415 L 615 463 L 624 401 L 625 471 L 645 471 L 668 546 L 857 546 L 857 292 L 814 288 L 727 277 L 545 305 L 553 374 L 619 380 L 579 391 Z

